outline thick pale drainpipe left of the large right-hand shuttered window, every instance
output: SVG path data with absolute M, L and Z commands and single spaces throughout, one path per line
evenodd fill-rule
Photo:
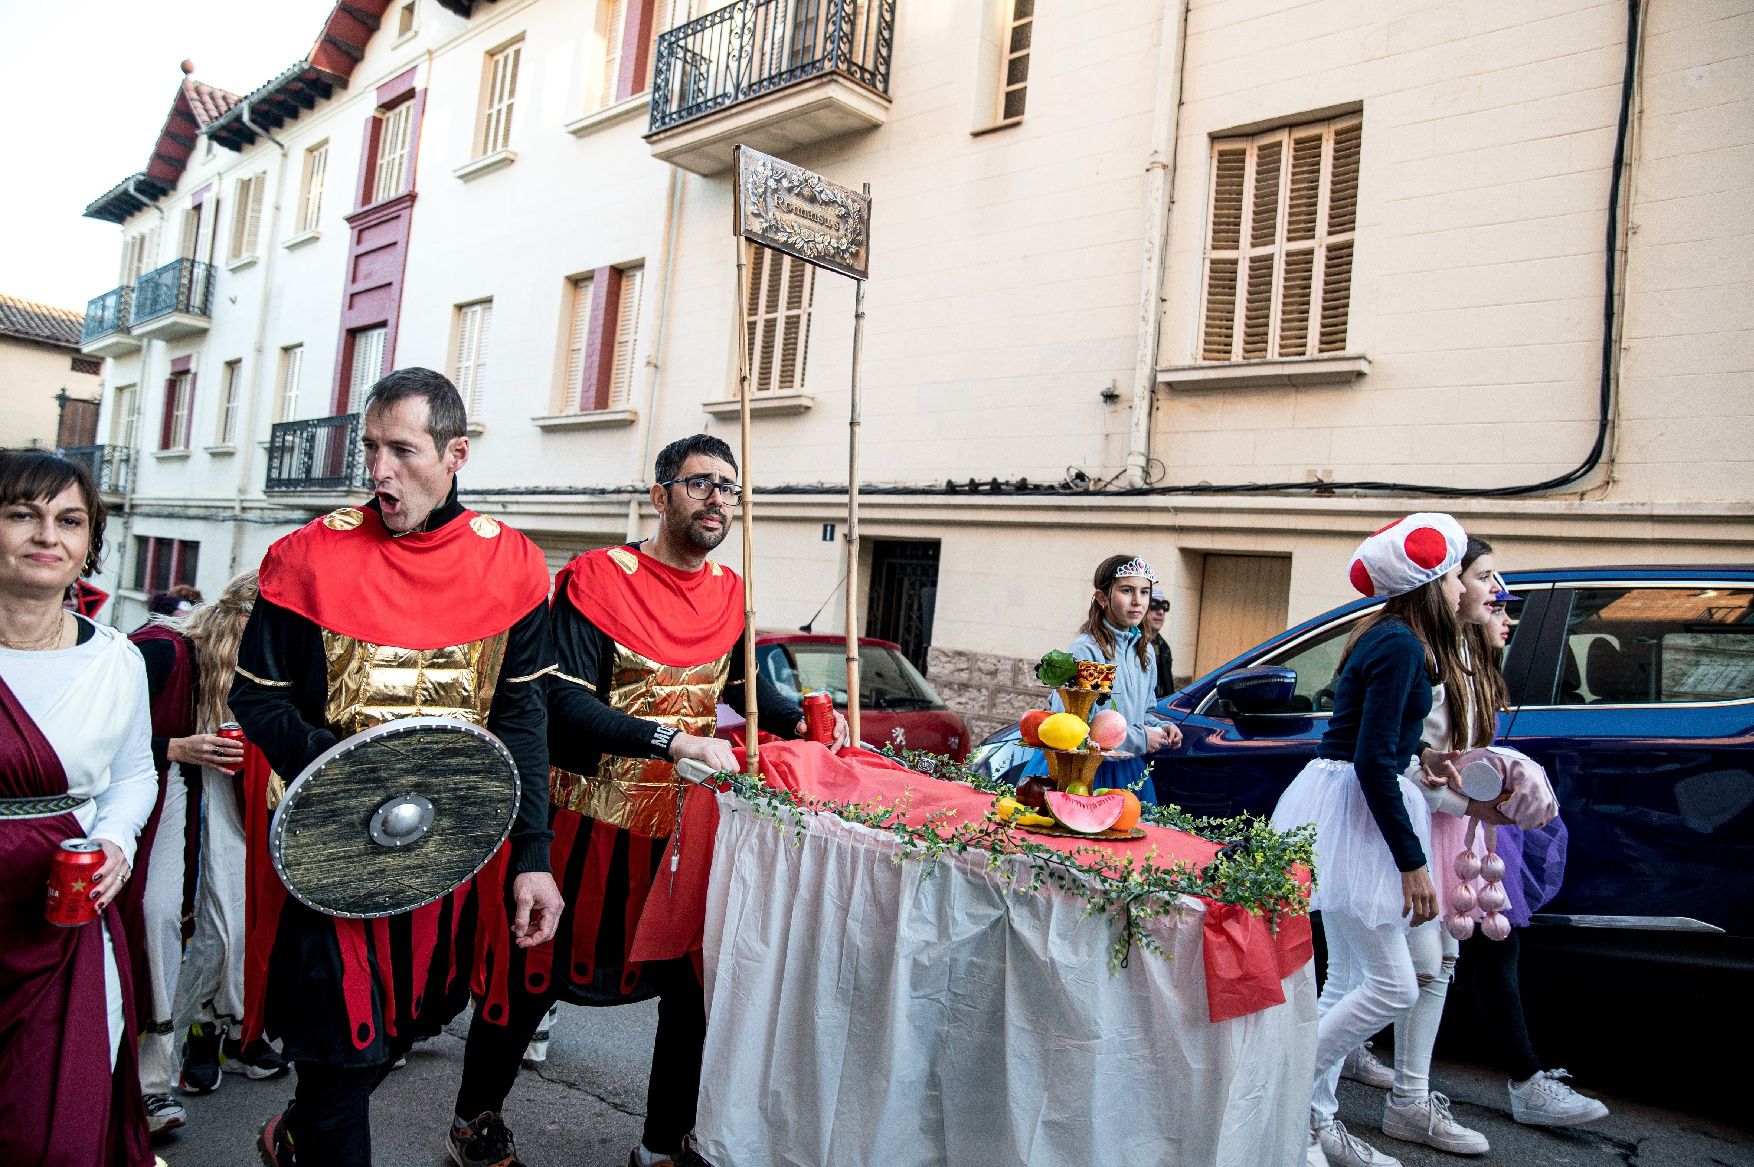
M 1158 91 L 1151 114 L 1151 161 L 1145 163 L 1145 242 L 1138 274 L 1138 349 L 1133 353 L 1133 409 L 1126 435 L 1126 484 L 1145 486 L 1151 463 L 1151 405 L 1158 391 L 1158 344 L 1163 335 L 1163 265 L 1170 242 L 1175 137 L 1182 112 L 1182 56 L 1191 0 L 1163 2 L 1158 44 Z

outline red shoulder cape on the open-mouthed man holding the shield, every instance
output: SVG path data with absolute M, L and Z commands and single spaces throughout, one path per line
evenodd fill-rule
M 505 632 L 547 598 L 542 551 L 474 511 L 391 535 L 375 507 L 342 507 L 268 548 L 261 598 L 368 644 L 438 649 Z

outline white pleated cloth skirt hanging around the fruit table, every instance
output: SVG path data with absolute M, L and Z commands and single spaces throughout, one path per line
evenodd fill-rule
M 1110 974 L 1112 921 L 1007 893 L 986 855 L 923 877 L 881 832 L 719 809 L 696 1121 L 717 1167 L 1303 1162 L 1310 965 L 1214 1025 L 1198 900 L 1152 923 L 1172 958 Z

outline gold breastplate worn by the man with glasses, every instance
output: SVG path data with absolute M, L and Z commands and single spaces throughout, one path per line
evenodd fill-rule
M 609 693 L 602 697 L 628 716 L 707 737 L 717 727 L 719 693 L 730 672 L 730 655 L 684 669 L 616 644 Z M 554 767 L 549 795 L 558 807 L 652 839 L 668 835 L 675 825 L 675 767 L 656 758 L 603 755 L 593 776 Z

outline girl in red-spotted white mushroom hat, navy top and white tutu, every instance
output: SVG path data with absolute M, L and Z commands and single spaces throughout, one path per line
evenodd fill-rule
M 1428 865 L 1431 811 L 1407 772 L 1419 753 L 1431 686 L 1458 676 L 1466 542 L 1451 516 L 1421 512 L 1359 544 L 1347 574 L 1358 591 L 1384 604 L 1347 641 L 1316 758 L 1273 809 L 1279 830 L 1316 827 L 1312 907 L 1323 913 L 1328 981 L 1316 1030 L 1310 1141 L 1312 1160 L 1319 1144 L 1331 1165 L 1396 1163 L 1337 1121 L 1335 1088 L 1345 1055 L 1419 997 L 1408 937 L 1412 928 L 1433 927 L 1438 904 Z

